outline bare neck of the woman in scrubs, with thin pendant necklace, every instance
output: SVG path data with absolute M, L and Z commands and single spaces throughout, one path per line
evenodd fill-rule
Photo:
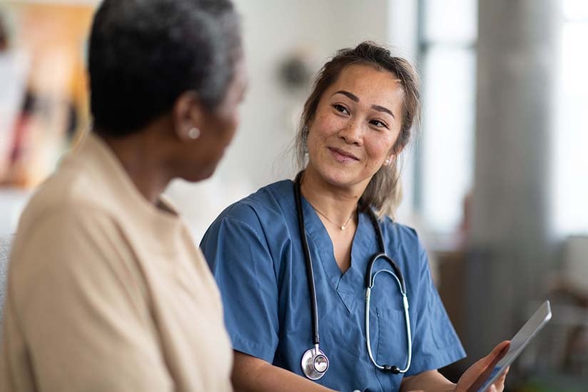
M 309 166 L 304 171 L 300 191 L 315 211 L 325 216 L 331 223 L 343 226 L 349 221 L 350 216 L 355 214 L 360 197 L 365 191 L 365 185 L 330 184 Z

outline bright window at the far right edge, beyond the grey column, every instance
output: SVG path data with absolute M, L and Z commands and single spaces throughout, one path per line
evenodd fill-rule
M 559 235 L 588 233 L 588 1 L 563 3 L 562 53 L 553 137 L 552 211 Z

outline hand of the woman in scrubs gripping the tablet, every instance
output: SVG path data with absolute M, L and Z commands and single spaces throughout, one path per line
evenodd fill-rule
M 492 352 L 474 363 L 470 368 L 463 373 L 460 381 L 457 381 L 455 392 L 475 392 L 487 381 L 490 373 L 494 370 L 498 361 L 500 361 L 507 353 L 510 346 L 510 341 L 503 341 L 499 343 Z M 505 389 L 505 378 L 508 373 L 508 368 L 505 373 L 490 386 L 491 392 L 501 392 Z

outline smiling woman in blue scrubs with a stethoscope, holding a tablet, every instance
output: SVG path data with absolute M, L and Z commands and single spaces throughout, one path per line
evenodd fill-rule
M 475 390 L 503 355 L 507 342 L 457 385 L 437 372 L 465 352 L 417 233 L 390 218 L 398 156 L 419 114 L 407 61 L 370 42 L 338 51 L 304 106 L 295 181 L 263 187 L 208 229 L 201 247 L 223 298 L 235 389 Z M 391 273 L 374 278 L 366 308 L 380 252 L 392 263 L 378 258 L 373 273 Z M 492 388 L 503 387 L 504 378 Z

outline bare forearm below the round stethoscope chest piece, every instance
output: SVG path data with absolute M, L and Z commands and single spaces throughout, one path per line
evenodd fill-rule
M 273 366 L 263 359 L 239 351 L 234 353 L 235 364 L 231 379 L 236 392 L 333 392 L 298 374 Z

